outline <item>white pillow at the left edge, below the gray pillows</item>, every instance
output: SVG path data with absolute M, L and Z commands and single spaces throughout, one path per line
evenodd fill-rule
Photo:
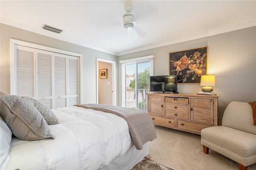
M 10 150 L 10 143 L 12 140 L 12 131 L 8 127 L 8 125 L 5 123 L 4 119 L 1 117 L 0 121 L 0 169 L 6 169 L 8 162 L 11 158 L 9 154 Z

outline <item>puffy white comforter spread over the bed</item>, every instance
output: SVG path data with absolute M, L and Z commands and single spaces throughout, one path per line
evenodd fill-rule
M 7 169 L 96 170 L 132 146 L 128 125 L 122 117 L 77 106 L 52 111 L 60 122 L 49 125 L 55 139 L 13 138 Z

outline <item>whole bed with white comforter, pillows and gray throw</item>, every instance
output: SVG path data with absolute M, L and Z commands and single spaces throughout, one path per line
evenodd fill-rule
M 151 117 L 137 109 L 87 104 L 50 110 L 32 98 L 9 95 L 1 96 L 0 110 L 0 169 L 130 170 L 156 138 Z

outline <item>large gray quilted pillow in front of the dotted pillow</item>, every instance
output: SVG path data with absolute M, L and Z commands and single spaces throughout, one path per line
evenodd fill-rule
M 0 115 L 19 139 L 34 141 L 53 138 L 44 117 L 20 96 L 1 96 Z

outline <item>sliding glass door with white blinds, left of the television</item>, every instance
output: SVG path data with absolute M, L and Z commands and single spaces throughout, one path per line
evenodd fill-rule
M 122 66 L 122 106 L 147 111 L 150 76 L 153 76 L 154 56 L 120 61 Z

